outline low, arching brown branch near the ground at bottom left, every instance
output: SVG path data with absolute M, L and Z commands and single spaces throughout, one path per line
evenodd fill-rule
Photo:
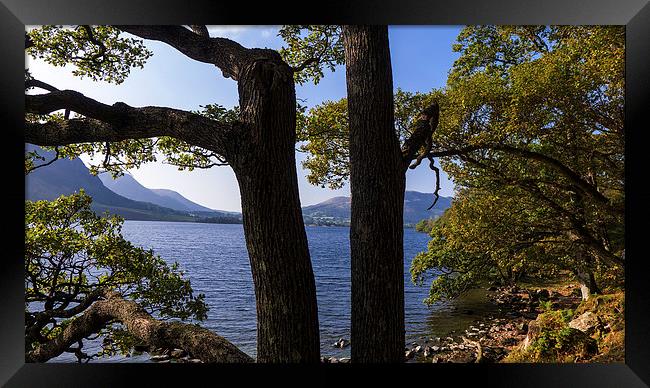
M 55 339 L 27 352 L 27 362 L 45 362 L 56 357 L 72 344 L 99 332 L 113 321 L 121 322 L 141 341 L 154 347 L 179 348 L 192 357 L 209 363 L 247 363 L 253 359 L 225 338 L 199 326 L 181 322 L 161 322 L 133 301 L 115 292 L 95 302 L 85 313 L 63 330 Z

